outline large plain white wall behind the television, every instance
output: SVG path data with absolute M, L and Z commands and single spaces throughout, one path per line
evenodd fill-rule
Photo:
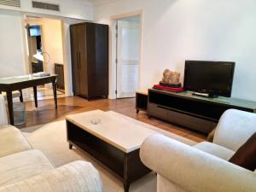
M 97 5 L 95 21 L 111 24 L 140 9 L 142 88 L 158 83 L 165 68 L 183 73 L 185 60 L 236 61 L 233 96 L 256 101 L 255 1 L 119 0 Z

